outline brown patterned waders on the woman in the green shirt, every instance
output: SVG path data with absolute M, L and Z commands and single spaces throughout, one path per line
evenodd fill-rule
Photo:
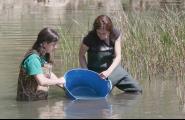
M 29 57 L 30 55 L 32 55 L 33 53 L 35 53 L 35 52 L 33 51 L 32 53 L 26 55 L 24 60 L 27 57 Z M 47 75 L 47 74 L 45 74 L 45 75 Z M 48 92 L 42 91 L 42 90 L 37 90 L 37 87 L 38 87 L 38 83 L 35 80 L 34 76 L 28 75 L 21 65 L 20 72 L 19 72 L 19 78 L 18 78 L 16 100 L 17 101 L 47 100 Z

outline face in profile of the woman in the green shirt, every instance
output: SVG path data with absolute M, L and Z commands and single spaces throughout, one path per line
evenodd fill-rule
M 57 48 L 57 42 L 51 42 L 51 43 L 44 43 L 44 48 L 46 50 L 46 53 L 51 53 Z

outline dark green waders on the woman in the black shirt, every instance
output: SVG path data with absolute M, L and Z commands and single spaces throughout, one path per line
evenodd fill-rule
M 88 69 L 98 73 L 107 70 L 113 61 L 112 50 L 108 51 L 88 51 Z M 125 92 L 141 92 L 138 81 L 134 80 L 131 75 L 119 64 L 111 75 L 108 77 L 112 86 L 116 86 Z

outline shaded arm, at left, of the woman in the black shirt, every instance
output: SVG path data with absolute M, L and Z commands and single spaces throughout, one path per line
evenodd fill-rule
M 87 68 L 87 60 L 86 60 L 85 54 L 88 49 L 89 48 L 85 44 L 81 43 L 80 50 L 79 50 L 79 62 L 82 68 Z

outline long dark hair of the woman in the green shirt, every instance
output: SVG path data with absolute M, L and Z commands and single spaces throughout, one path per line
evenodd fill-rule
M 57 42 L 58 40 L 59 40 L 59 35 L 55 30 L 51 28 L 44 28 L 39 32 L 37 40 L 32 46 L 32 50 L 36 50 L 38 54 L 42 56 L 42 52 L 45 49 L 43 47 L 43 43 Z M 46 53 L 45 58 L 47 62 L 52 63 L 50 53 Z

